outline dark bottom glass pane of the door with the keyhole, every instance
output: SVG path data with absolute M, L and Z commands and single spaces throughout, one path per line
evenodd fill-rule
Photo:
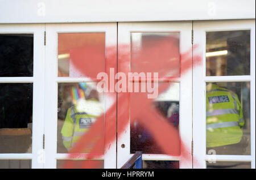
M 179 169 L 179 161 L 142 161 L 143 169 Z

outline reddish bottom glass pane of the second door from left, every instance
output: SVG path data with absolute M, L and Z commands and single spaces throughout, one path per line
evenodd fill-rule
M 57 169 L 103 169 L 104 160 L 57 160 Z

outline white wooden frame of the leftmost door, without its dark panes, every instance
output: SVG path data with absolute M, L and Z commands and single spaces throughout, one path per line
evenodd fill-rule
M 44 24 L 0 24 L 0 34 L 9 33 L 34 35 L 33 76 L 0 77 L 0 83 L 33 83 L 32 153 L 0 153 L 0 160 L 32 160 L 31 168 L 43 168 Z

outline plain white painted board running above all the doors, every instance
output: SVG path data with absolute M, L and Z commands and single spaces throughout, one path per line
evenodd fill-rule
M 1 3 L 0 23 L 255 19 L 254 0 L 13 0 Z

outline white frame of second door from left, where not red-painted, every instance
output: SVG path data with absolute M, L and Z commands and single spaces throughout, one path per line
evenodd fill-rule
M 109 46 L 117 45 L 117 23 L 65 23 L 65 24 L 46 24 L 46 81 L 45 81 L 45 151 L 46 163 L 44 168 L 56 168 L 56 160 L 68 159 L 68 153 L 57 153 L 57 83 L 77 83 L 77 82 L 93 82 L 90 78 L 69 78 L 58 77 L 58 61 L 57 61 L 57 46 L 58 33 L 86 33 L 86 32 L 103 32 L 105 33 L 105 59 L 111 54 L 108 53 Z M 105 62 L 106 68 L 108 62 Z M 105 94 L 105 111 L 109 108 L 108 96 Z M 108 119 L 105 121 L 115 121 Z M 106 122 L 105 122 L 106 123 Z M 97 160 L 104 160 L 104 168 L 116 168 L 116 142 L 112 143 L 111 148 L 104 156 Z M 74 158 L 84 159 L 84 158 Z M 85 159 L 84 159 L 85 160 Z M 96 160 L 96 159 L 94 159 Z

